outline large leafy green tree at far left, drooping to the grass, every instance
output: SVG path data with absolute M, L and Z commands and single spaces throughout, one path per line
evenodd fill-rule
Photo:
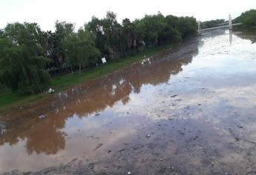
M 4 36 L 4 37 L 3 37 Z M 5 38 L 5 39 L 4 39 Z M 38 93 L 50 84 L 42 55 L 42 31 L 36 23 L 7 24 L 0 47 L 1 81 L 21 94 Z

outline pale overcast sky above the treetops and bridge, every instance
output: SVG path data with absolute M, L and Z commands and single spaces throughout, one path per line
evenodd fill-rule
M 11 22 L 37 22 L 43 30 L 54 30 L 54 22 L 74 22 L 76 29 L 114 11 L 119 22 L 142 18 L 160 11 L 163 15 L 194 16 L 197 20 L 228 19 L 256 9 L 256 0 L 0 0 L 0 28 Z

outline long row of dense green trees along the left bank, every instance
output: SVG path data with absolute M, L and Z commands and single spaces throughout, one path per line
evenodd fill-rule
M 55 31 L 43 31 L 36 23 L 12 23 L 0 30 L 0 87 L 19 94 L 43 92 L 52 76 L 82 71 L 86 67 L 133 56 L 165 44 L 180 44 L 197 33 L 194 17 L 145 15 L 123 19 L 107 12 L 74 30 L 70 22 L 55 23 Z M 104 67 L 102 67 L 104 69 Z

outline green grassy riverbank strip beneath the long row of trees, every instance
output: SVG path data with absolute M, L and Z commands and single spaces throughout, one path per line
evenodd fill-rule
M 65 90 L 68 87 L 79 85 L 82 82 L 88 81 L 90 79 L 96 79 L 101 76 L 108 75 L 109 73 L 113 73 L 115 70 L 118 70 L 122 67 L 127 67 L 133 64 L 134 62 L 143 59 L 144 55 L 147 57 L 153 56 L 154 54 L 157 54 L 160 51 L 167 49 L 168 47 L 170 46 L 156 47 L 149 50 L 145 50 L 142 53 L 138 53 L 135 56 L 128 56 L 122 59 L 118 59 L 114 62 L 108 62 L 107 65 L 88 68 L 84 70 L 82 73 L 73 73 L 53 77 L 50 87 L 56 90 L 56 92 Z M 46 93 L 39 93 L 29 96 L 19 96 L 18 94 L 13 93 L 10 89 L 0 90 L 0 112 L 12 107 L 16 107 L 18 105 L 24 105 L 28 102 L 33 102 L 38 99 L 45 98 L 46 96 Z

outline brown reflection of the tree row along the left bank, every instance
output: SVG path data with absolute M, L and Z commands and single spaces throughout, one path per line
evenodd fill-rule
M 175 53 L 166 51 L 123 71 L 68 90 L 23 110 L 12 110 L 1 116 L 6 132 L 0 135 L 0 145 L 26 142 L 27 153 L 55 154 L 65 148 L 65 121 L 76 113 L 79 117 L 98 113 L 116 102 L 126 104 L 129 96 L 140 93 L 142 85 L 159 85 L 182 71 L 198 53 L 198 42 L 186 44 Z M 39 116 L 47 115 L 45 119 Z

